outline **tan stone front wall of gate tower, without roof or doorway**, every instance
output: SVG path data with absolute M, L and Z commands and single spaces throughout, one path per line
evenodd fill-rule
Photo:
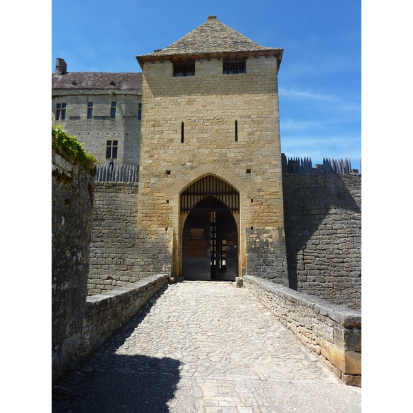
M 240 193 L 240 274 L 255 272 L 264 254 L 271 277 L 286 283 L 277 59 L 247 59 L 246 73 L 230 75 L 222 59 L 196 60 L 195 76 L 187 77 L 173 77 L 170 61 L 155 61 L 145 63 L 143 76 L 139 227 L 173 227 L 179 275 L 184 220 L 176 194 L 218 176 Z

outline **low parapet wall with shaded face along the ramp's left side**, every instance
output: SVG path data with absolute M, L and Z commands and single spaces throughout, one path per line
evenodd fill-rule
M 167 282 L 167 274 L 151 275 L 134 284 L 87 297 L 81 343 L 76 352 L 78 360 L 94 352 L 125 326 Z

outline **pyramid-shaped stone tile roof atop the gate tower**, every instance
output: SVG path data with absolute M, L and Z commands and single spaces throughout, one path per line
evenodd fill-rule
M 215 16 L 212 16 L 208 17 L 207 23 L 200 25 L 165 49 L 136 57 L 139 60 L 140 58 L 172 56 L 175 54 L 224 54 L 228 52 L 260 52 L 270 50 L 282 51 L 283 49 L 260 46 L 255 41 L 229 28 L 224 23 L 218 21 Z

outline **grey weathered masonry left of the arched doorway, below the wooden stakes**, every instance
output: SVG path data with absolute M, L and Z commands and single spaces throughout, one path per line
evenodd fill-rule
M 95 182 L 87 295 L 170 273 L 169 235 L 138 230 L 137 195 L 138 184 Z

